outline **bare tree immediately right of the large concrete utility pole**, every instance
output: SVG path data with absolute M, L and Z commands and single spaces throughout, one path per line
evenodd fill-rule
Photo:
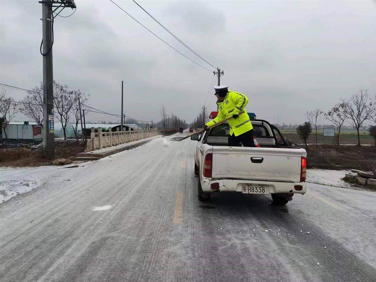
M 68 85 L 61 85 L 54 81 L 53 83 L 53 104 L 55 117 L 61 122 L 61 127 L 64 132 L 64 140 L 67 140 L 67 124 L 73 114 L 72 109 L 75 105 L 74 95 L 72 91 L 68 90 Z

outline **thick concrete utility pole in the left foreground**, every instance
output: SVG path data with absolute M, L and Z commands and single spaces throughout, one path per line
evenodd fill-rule
M 52 69 L 52 0 L 42 2 L 43 29 L 43 147 L 50 158 L 55 158 L 55 132 L 53 116 L 53 69 Z

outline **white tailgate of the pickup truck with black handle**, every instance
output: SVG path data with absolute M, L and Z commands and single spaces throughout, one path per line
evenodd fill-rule
M 213 146 L 212 179 L 300 181 L 303 151 Z

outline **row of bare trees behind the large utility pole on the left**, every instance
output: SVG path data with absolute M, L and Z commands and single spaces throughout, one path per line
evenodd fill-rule
M 54 80 L 53 82 L 54 95 L 54 115 L 61 123 L 64 139 L 67 139 L 67 127 L 71 126 L 74 135 L 78 139 L 77 128 L 80 123 L 80 106 L 81 110 L 87 110 L 86 103 L 89 99 L 89 94 L 83 93 L 80 90 L 70 90 L 68 85 L 62 85 Z M 20 103 L 14 102 L 14 99 L 7 96 L 6 90 L 2 89 L 0 94 L 0 116 L 3 117 L 2 128 L 5 130 L 6 126 L 15 117 L 17 112 L 21 112 L 40 126 L 43 124 L 43 84 L 34 87 L 27 91 L 26 97 Z M 5 132 L 5 138 L 6 132 Z

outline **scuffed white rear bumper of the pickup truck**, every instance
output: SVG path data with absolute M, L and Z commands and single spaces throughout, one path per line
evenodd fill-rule
M 212 189 L 211 184 L 219 183 L 218 189 Z M 270 194 L 278 193 L 295 193 L 305 194 L 307 191 L 306 182 L 274 182 L 274 181 L 259 181 L 259 180 L 239 180 L 239 179 L 222 179 L 222 180 L 209 180 L 204 179 L 201 181 L 203 192 L 242 192 L 242 185 L 252 186 L 269 186 Z M 294 186 L 302 186 L 301 191 L 295 190 Z

